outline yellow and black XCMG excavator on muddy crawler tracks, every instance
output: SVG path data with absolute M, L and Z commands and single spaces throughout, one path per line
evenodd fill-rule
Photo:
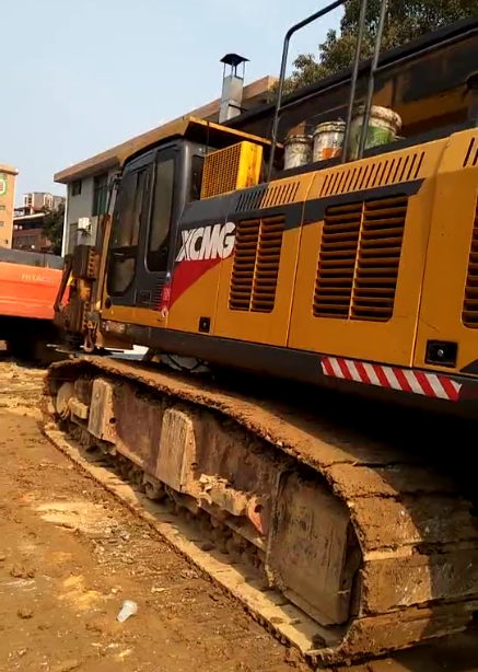
M 288 32 L 270 139 L 185 117 L 123 157 L 55 305 L 82 349 L 44 397 L 247 567 L 236 594 L 272 595 L 289 616 L 259 619 L 315 665 L 478 612 L 478 108 L 366 147 L 384 2 L 352 159 L 364 2 L 342 153 L 283 170 L 290 38 L 340 4 Z

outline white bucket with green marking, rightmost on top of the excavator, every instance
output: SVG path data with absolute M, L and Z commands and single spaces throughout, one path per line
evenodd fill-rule
M 363 126 L 363 105 L 353 115 L 350 127 L 350 158 L 357 159 L 359 153 L 360 134 Z M 389 107 L 372 105 L 369 128 L 365 136 L 365 149 L 394 142 L 401 128 L 400 116 Z

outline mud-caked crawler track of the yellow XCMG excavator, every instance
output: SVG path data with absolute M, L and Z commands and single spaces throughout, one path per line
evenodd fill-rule
M 478 609 L 471 503 L 389 441 L 311 419 L 296 401 L 93 357 L 54 364 L 45 399 L 184 511 L 211 547 L 205 570 L 312 664 L 459 632 Z

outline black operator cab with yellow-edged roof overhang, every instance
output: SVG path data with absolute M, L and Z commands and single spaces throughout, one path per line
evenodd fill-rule
M 263 138 L 191 118 L 175 130 L 124 163 L 108 244 L 107 310 L 159 306 L 174 266 L 182 212 L 188 202 L 201 198 L 207 158 L 244 141 L 254 147 L 269 144 Z M 253 185 L 234 183 L 231 190 L 237 186 Z M 225 187 L 222 193 L 229 190 Z M 219 193 L 202 189 L 202 198 Z

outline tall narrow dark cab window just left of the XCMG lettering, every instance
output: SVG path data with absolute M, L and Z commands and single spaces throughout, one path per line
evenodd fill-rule
M 154 196 L 148 244 L 148 269 L 162 271 L 167 269 L 170 250 L 170 227 L 173 215 L 174 158 L 156 163 L 154 176 Z

